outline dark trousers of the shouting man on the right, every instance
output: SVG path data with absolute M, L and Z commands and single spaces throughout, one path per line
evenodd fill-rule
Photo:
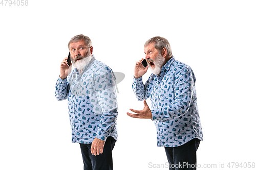
M 195 138 L 179 147 L 164 147 L 169 169 L 196 169 L 199 143 L 200 140 Z

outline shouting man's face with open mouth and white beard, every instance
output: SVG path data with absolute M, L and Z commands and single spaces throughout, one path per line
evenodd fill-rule
M 164 64 L 164 57 L 155 48 L 154 43 L 144 47 L 144 53 L 146 55 L 148 67 L 150 67 L 154 75 L 159 75 Z

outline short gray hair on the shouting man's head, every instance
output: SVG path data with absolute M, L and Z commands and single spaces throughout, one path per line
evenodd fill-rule
M 170 44 L 167 39 L 163 37 L 153 37 L 149 40 L 147 40 L 144 44 L 144 47 L 148 46 L 151 43 L 155 43 L 155 48 L 160 52 L 165 47 L 167 50 L 167 56 L 172 56 L 172 48 L 170 47 Z

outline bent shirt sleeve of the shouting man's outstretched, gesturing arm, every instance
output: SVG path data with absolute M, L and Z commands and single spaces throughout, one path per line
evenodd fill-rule
M 163 122 L 185 114 L 194 95 L 195 81 L 191 68 L 185 67 L 176 72 L 174 78 L 174 101 L 170 105 L 162 105 L 161 109 L 151 110 L 152 120 Z

